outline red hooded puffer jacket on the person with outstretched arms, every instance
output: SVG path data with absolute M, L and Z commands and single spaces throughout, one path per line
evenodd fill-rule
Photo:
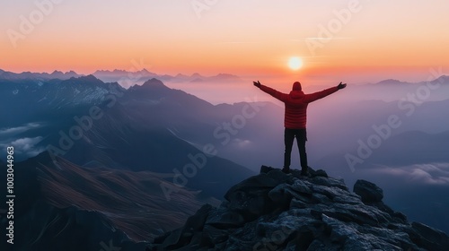
M 331 87 L 324 91 L 304 94 L 304 92 L 301 91 L 301 85 L 299 82 L 298 84 L 294 84 L 293 90 L 288 94 L 276 91 L 265 85 L 260 85 L 260 90 L 269 93 L 269 95 L 286 104 L 284 126 L 289 129 L 305 128 L 305 124 L 307 123 L 307 105 L 315 100 L 320 100 L 336 91 L 339 91 L 337 87 Z

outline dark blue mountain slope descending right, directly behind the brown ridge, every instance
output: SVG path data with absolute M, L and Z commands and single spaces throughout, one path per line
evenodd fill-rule
M 104 110 L 104 116 L 84 132 L 82 139 L 74 141 L 64 158 L 80 165 L 94 161 L 113 169 L 145 170 L 172 176 L 179 172 L 185 180 L 176 177 L 178 184 L 217 198 L 224 195 L 225 187 L 253 174 L 230 160 L 208 155 L 162 126 L 145 123 L 143 118 L 135 116 L 131 107 L 117 104 Z M 55 136 L 51 142 L 60 138 Z M 173 178 L 166 179 L 173 182 Z

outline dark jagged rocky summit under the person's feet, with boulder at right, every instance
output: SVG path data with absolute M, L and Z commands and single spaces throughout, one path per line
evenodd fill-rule
M 146 250 L 448 250 L 443 231 L 407 221 L 378 186 L 358 180 L 353 191 L 323 170 L 262 166 Z

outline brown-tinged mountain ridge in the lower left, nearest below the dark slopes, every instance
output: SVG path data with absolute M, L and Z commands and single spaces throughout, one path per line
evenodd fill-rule
M 46 152 L 16 163 L 14 175 L 15 250 L 100 250 L 110 240 L 142 250 L 136 241 L 180 227 L 202 204 L 218 202 L 167 184 L 160 174 L 83 168 Z M 171 202 L 162 183 L 177 190 Z

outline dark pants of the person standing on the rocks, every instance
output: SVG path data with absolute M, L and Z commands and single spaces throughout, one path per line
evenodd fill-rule
M 290 168 L 293 142 L 298 143 L 299 158 L 301 160 L 301 168 L 307 169 L 307 153 L 305 152 L 305 142 L 307 141 L 307 134 L 304 129 L 289 129 L 284 131 L 284 143 L 286 144 L 286 151 L 284 152 L 284 168 Z

